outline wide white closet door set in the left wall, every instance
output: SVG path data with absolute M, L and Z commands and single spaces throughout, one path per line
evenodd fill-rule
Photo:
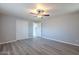
M 25 20 L 16 20 L 16 39 L 28 38 L 28 22 Z

